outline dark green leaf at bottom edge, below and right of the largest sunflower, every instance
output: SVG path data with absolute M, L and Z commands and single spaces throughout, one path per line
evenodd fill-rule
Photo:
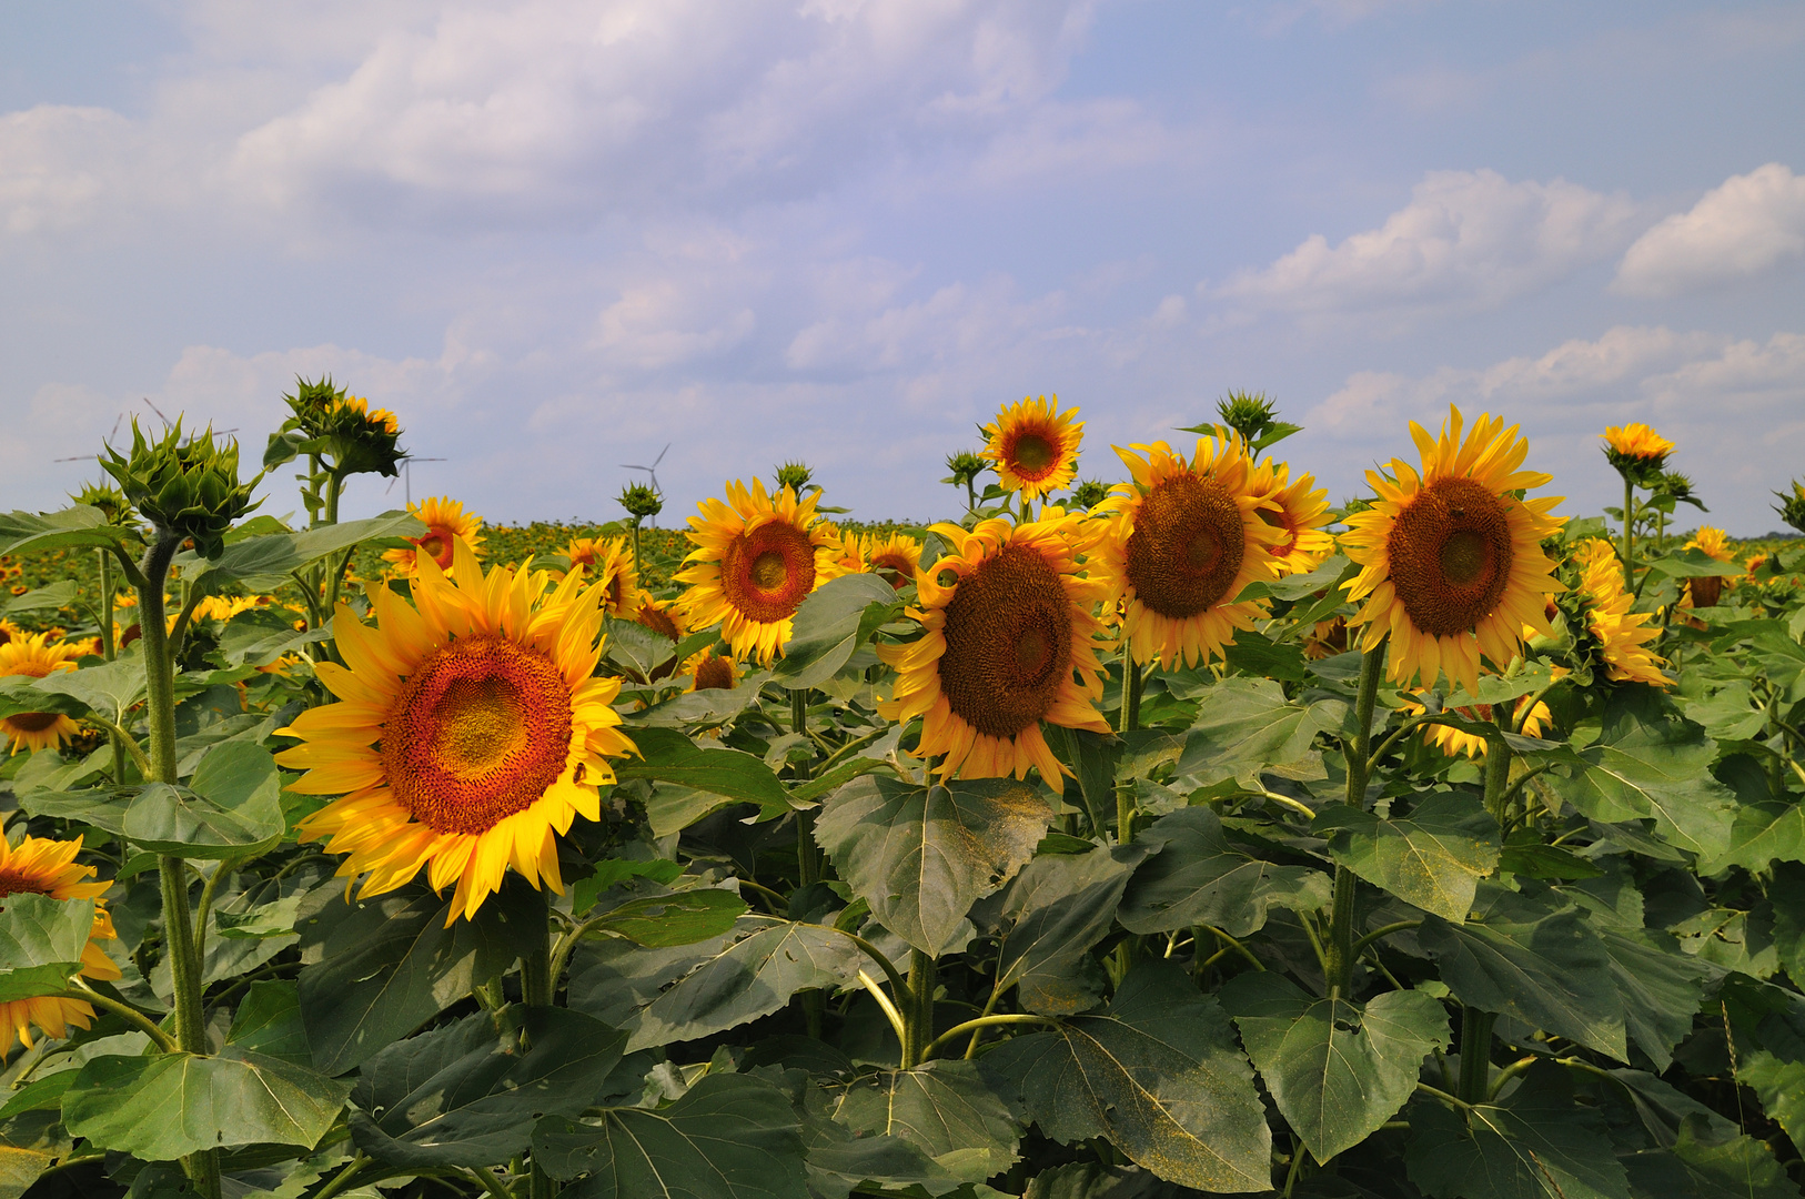
M 789 1098 L 745 1074 L 704 1074 L 670 1107 L 610 1107 L 599 1123 L 547 1118 L 532 1161 L 587 1177 L 565 1199 L 807 1199 L 801 1121 Z

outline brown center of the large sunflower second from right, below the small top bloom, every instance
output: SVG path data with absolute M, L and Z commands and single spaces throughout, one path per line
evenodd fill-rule
M 1247 553 L 1240 507 L 1215 479 L 1177 475 L 1141 500 L 1128 581 L 1153 612 L 1184 619 L 1220 603 Z

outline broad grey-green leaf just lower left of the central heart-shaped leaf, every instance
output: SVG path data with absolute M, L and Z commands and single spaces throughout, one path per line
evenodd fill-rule
M 756 1020 L 800 990 L 850 982 L 861 964 L 859 948 L 832 928 L 742 916 L 731 943 L 623 1022 L 626 1051 Z

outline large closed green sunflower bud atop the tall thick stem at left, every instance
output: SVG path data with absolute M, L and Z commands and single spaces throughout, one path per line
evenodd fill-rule
M 193 538 L 195 549 L 208 558 L 224 549 L 233 522 L 256 507 L 251 488 L 262 479 L 240 484 L 238 442 L 217 442 L 211 426 L 184 441 L 180 421 L 162 441 L 146 441 L 132 421 L 132 453 L 106 446 L 101 466 L 159 534 Z

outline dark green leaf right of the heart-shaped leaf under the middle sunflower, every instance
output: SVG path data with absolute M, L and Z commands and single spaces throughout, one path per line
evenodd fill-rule
M 1222 822 L 1208 807 L 1162 816 L 1135 843 L 1162 849 L 1135 870 L 1115 912 L 1128 932 L 1213 925 L 1231 937 L 1247 937 L 1265 926 L 1273 905 L 1294 912 L 1328 906 L 1327 874 L 1242 852 L 1222 834 Z

